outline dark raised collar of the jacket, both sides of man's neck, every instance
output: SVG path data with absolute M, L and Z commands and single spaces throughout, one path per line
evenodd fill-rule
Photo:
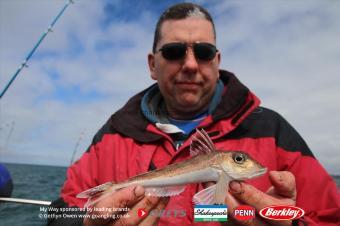
M 224 89 L 219 104 L 211 114 L 212 122 L 233 118 L 240 123 L 249 114 L 249 111 L 246 111 L 249 110 L 247 106 L 254 107 L 252 99 L 258 99 L 233 73 L 221 70 L 220 80 L 224 84 Z M 154 87 L 155 84 L 133 96 L 111 116 L 110 126 L 123 136 L 131 137 L 139 142 L 149 143 L 162 139 L 161 133 L 155 134 L 147 130 L 151 122 L 145 117 L 145 112 L 141 108 L 143 97 L 151 92 L 150 90 L 154 90 Z M 245 108 L 247 109 L 243 110 Z

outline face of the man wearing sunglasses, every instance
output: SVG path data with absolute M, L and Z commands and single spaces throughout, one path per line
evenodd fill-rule
M 215 45 L 212 24 L 205 19 L 166 20 L 156 50 L 173 42 L 207 42 Z M 220 53 L 210 61 L 195 58 L 192 47 L 180 60 L 167 60 L 161 51 L 148 56 L 151 78 L 157 80 L 168 113 L 189 119 L 207 109 L 219 77 Z

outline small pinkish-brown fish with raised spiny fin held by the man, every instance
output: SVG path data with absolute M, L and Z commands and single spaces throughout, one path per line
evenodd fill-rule
M 107 182 L 85 190 L 77 198 L 88 198 L 93 206 L 119 189 L 141 185 L 145 195 L 171 197 L 181 194 L 187 184 L 216 182 L 193 196 L 196 205 L 225 204 L 226 191 L 233 180 L 259 177 L 267 168 L 243 151 L 217 150 L 204 129 L 196 129 L 190 144 L 191 158 L 134 176 L 121 183 Z

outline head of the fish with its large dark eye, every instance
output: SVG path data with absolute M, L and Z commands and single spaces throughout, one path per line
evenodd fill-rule
M 242 151 L 223 151 L 222 169 L 235 180 L 246 180 L 267 172 L 267 168 Z

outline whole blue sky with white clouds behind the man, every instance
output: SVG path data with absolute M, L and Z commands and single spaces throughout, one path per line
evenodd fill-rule
M 1 91 L 66 2 L 0 0 Z M 0 162 L 69 165 L 113 112 L 153 84 L 154 27 L 180 1 L 74 2 L 0 99 Z M 340 175 L 340 1 L 194 2 L 215 20 L 221 68 Z

